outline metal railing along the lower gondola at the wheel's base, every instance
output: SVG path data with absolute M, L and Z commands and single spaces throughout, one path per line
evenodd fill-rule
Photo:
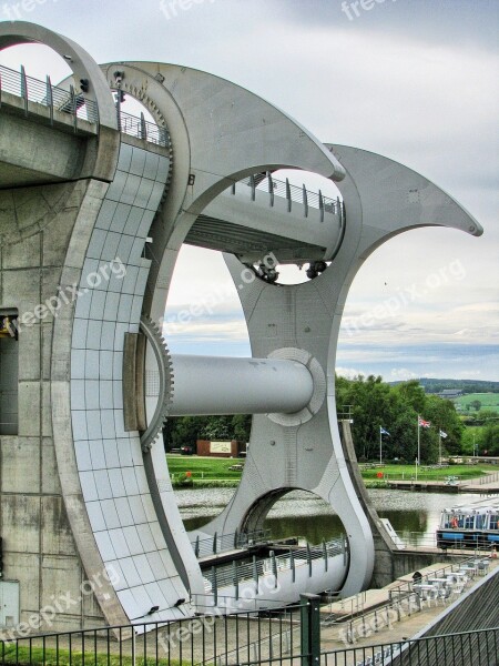
M 277 582 L 279 573 L 288 571 L 292 572 L 292 581 L 295 582 L 296 568 L 307 566 L 310 577 L 314 561 L 322 559 L 325 571 L 327 571 L 330 557 L 343 555 L 346 564 L 347 554 L 348 545 L 342 536 L 327 543 L 324 542 L 319 546 L 307 544 L 305 547 L 291 547 L 286 555 L 275 555 L 271 551 L 268 557 L 258 558 L 254 555 L 252 562 L 241 563 L 235 559 L 228 566 L 212 566 L 210 569 L 203 571 L 203 576 L 206 582 L 206 592 L 211 592 L 215 596 L 216 605 L 220 588 L 234 586 L 235 598 L 238 599 L 238 585 L 243 582 L 252 581 L 257 587 L 259 578 L 273 576 Z

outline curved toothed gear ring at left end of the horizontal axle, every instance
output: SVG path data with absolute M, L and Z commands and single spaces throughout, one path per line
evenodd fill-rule
M 160 394 L 157 396 L 157 405 L 147 428 L 141 435 L 142 451 L 149 453 L 170 413 L 174 384 L 173 364 L 166 342 L 155 322 L 153 322 L 151 317 L 143 315 L 141 317 L 140 327 L 153 349 L 160 372 Z

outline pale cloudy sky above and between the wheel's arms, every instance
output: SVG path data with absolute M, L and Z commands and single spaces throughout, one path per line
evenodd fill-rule
M 432 180 L 485 233 L 420 229 L 378 249 L 350 290 L 337 372 L 499 381 L 497 0 L 0 0 L 0 19 L 13 18 L 65 34 L 98 62 L 212 72 L 324 142 L 378 152 Z M 21 61 L 33 77 L 64 74 L 44 50 L 0 53 L 7 67 Z M 193 302 L 201 315 L 175 323 Z M 217 253 L 182 250 L 165 317 L 173 352 L 249 355 Z

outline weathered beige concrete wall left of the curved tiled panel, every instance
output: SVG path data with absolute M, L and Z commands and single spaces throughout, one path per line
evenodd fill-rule
M 43 192 L 0 192 L 0 311 L 17 307 L 22 317 L 55 293 L 86 188 L 79 182 L 47 185 Z M 16 213 L 9 219 L 8 205 Z M 0 535 L 3 579 L 20 582 L 21 622 L 70 593 L 72 602 L 62 604 L 54 625 L 63 629 L 99 624 L 102 614 L 93 595 L 80 592 L 85 576 L 59 482 L 50 404 L 52 329 L 50 313 L 20 326 L 19 431 L 0 437 Z

